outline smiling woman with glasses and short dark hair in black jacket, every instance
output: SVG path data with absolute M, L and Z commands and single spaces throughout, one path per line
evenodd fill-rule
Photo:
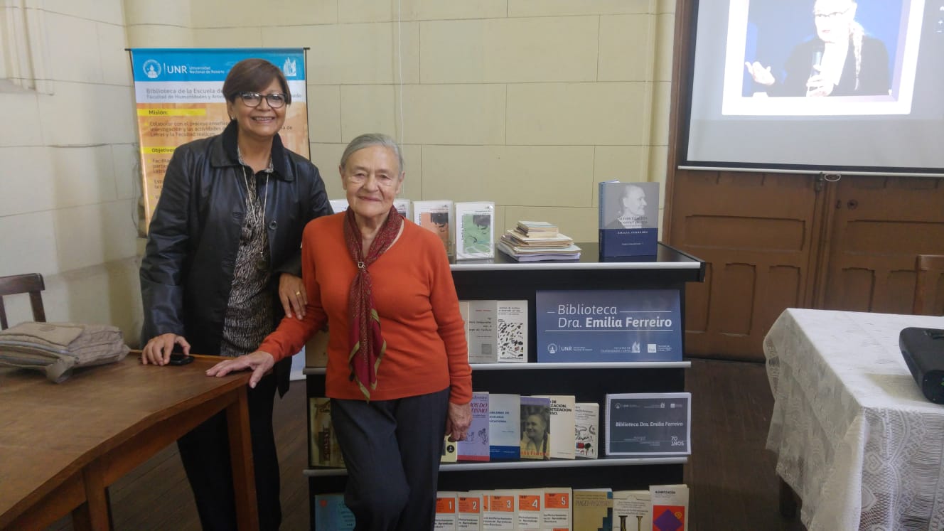
M 141 265 L 145 365 L 166 365 L 176 346 L 240 356 L 255 351 L 283 314 L 304 314 L 301 233 L 331 208 L 318 168 L 278 136 L 292 102 L 288 81 L 266 60 L 242 60 L 223 94 L 229 125 L 177 147 L 149 227 Z M 281 522 L 272 408 L 290 365 L 284 360 L 248 389 L 263 530 Z M 236 528 L 227 441 L 223 413 L 177 441 L 204 529 Z

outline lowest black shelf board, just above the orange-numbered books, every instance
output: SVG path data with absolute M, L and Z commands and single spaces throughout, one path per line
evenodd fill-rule
M 501 460 L 488 462 L 443 463 L 439 471 L 520 471 L 527 469 L 566 469 L 586 467 L 625 467 L 632 465 L 684 465 L 685 455 L 653 455 L 649 457 L 601 457 L 599 459 L 551 459 L 549 461 Z M 346 469 L 315 467 L 303 471 L 307 477 L 347 475 Z

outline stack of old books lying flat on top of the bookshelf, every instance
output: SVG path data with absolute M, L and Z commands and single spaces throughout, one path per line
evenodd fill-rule
M 497 248 L 519 262 L 577 260 L 581 248 L 547 221 L 518 221 L 514 229 L 501 235 Z

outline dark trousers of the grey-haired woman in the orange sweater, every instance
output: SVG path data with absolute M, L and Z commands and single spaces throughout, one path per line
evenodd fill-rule
M 331 400 L 355 531 L 432 529 L 448 402 L 448 388 L 390 401 Z

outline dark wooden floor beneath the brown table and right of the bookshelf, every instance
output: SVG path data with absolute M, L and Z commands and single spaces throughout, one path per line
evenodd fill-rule
M 689 531 L 802 531 L 778 512 L 774 456 L 764 449 L 773 399 L 762 364 L 692 360 L 692 450 L 684 468 L 691 491 Z M 309 529 L 305 383 L 276 403 L 283 531 Z M 110 488 L 118 531 L 200 529 L 194 500 L 171 446 Z M 50 529 L 72 529 L 64 519 Z

